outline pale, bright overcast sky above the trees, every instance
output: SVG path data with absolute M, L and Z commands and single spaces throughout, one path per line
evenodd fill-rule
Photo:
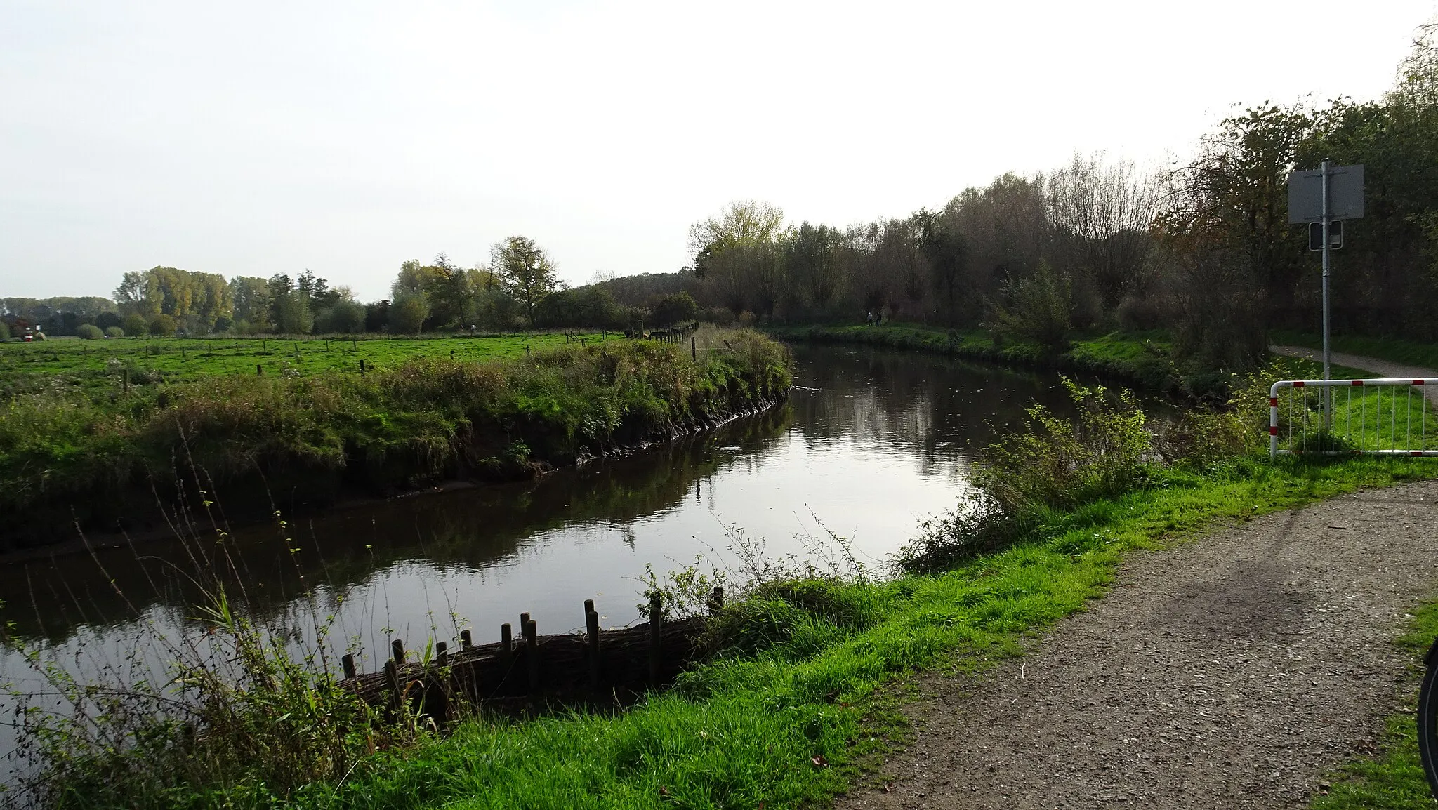
M 672 272 L 738 199 L 851 224 L 1074 153 L 1189 157 L 1235 104 L 1378 98 L 1432 0 L 0 0 L 0 296 L 157 265 L 400 263 L 533 237 Z

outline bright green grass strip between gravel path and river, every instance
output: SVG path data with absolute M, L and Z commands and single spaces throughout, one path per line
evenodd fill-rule
M 766 645 L 705 665 L 617 715 L 467 722 L 447 740 L 380 754 L 313 807 L 798 807 L 858 777 L 899 734 L 886 685 L 933 668 L 982 668 L 1100 597 L 1120 560 L 1215 524 L 1438 475 L 1438 465 L 1240 460 L 1208 475 L 1048 518 L 1018 545 L 932 577 L 812 586 L 731 607 Z

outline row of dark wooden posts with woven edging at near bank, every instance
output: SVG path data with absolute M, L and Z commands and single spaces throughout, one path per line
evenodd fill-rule
M 709 611 L 723 607 L 723 588 L 709 596 Z M 519 614 L 519 639 L 506 622 L 500 640 L 475 645 L 470 630 L 460 632 L 459 649 L 436 642 L 430 660 L 408 660 L 401 639 L 390 645 L 381 672 L 360 673 L 352 653 L 341 659 L 344 681 L 361 699 L 387 709 L 408 702 L 417 712 L 453 716 L 454 698 L 472 705 L 503 705 L 538 698 L 558 702 L 620 699 L 641 695 L 677 675 L 697 652 L 705 617 L 663 620 L 660 597 L 649 603 L 649 622 L 634 627 L 600 629 L 594 600 L 584 600 L 582 634 L 539 636 L 529 613 Z

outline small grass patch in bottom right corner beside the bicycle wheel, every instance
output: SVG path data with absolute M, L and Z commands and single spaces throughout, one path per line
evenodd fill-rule
M 1431 601 L 1418 610 L 1408 633 L 1398 639 L 1398 646 L 1412 660 L 1408 679 L 1412 696 L 1405 702 L 1403 711 L 1388 718 L 1380 752 L 1345 765 L 1332 780 L 1327 794 L 1313 798 L 1313 810 L 1438 807 L 1428 788 L 1422 761 L 1418 758 L 1418 728 L 1414 722 L 1424 653 L 1435 637 L 1438 637 L 1438 601 Z

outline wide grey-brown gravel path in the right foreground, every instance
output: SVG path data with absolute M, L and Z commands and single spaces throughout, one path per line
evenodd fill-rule
M 1402 699 L 1435 527 L 1424 482 L 1135 554 L 1022 659 L 925 678 L 913 742 L 837 807 L 1304 807 Z

